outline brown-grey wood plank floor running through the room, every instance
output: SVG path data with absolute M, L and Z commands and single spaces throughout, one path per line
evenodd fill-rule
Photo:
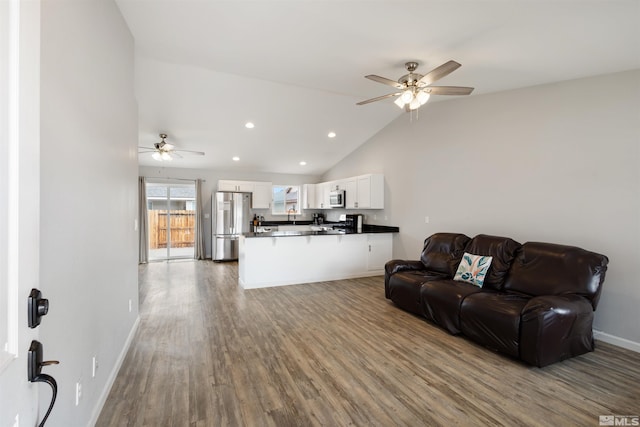
M 384 298 L 383 278 L 242 290 L 237 264 L 140 267 L 140 326 L 97 426 L 597 426 L 640 415 L 640 355 L 534 368 Z

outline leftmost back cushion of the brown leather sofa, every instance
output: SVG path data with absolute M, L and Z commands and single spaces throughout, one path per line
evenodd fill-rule
M 469 240 L 460 233 L 436 233 L 427 237 L 420 255 L 424 269 L 453 277 Z

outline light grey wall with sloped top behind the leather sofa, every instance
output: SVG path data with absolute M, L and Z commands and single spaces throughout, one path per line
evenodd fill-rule
M 388 220 L 377 222 L 400 227 L 397 258 L 417 259 L 440 231 L 607 255 L 594 328 L 638 350 L 639 165 L 635 70 L 427 104 L 322 178 L 385 174 Z

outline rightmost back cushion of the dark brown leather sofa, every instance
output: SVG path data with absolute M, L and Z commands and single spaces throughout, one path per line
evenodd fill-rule
M 527 242 L 520 249 L 505 290 L 532 296 L 575 294 L 595 310 L 609 259 L 574 246 Z

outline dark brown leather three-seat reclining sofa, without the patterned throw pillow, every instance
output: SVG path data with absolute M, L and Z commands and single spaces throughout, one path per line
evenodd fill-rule
M 482 287 L 453 280 L 467 252 L 491 256 Z M 385 296 L 449 333 L 542 367 L 594 349 L 609 260 L 573 246 L 437 233 L 420 260 L 385 265 Z

